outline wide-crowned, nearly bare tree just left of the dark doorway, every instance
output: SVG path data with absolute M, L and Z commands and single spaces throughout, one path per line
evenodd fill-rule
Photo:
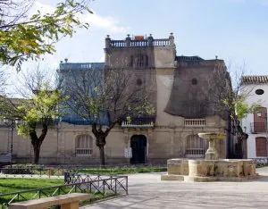
M 155 112 L 150 103 L 151 91 L 137 85 L 131 70 L 88 69 L 64 75 L 63 89 L 69 96 L 66 104 L 73 113 L 90 121 L 100 163 L 105 165 L 106 137 L 113 127 L 121 121 Z

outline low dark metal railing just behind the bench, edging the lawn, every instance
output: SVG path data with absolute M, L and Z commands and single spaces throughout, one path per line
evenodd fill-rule
M 14 202 L 27 201 L 49 196 L 59 196 L 70 194 L 73 192 L 90 193 L 92 198 L 90 202 L 94 202 L 100 198 L 111 196 L 128 195 L 128 177 L 96 177 L 96 179 L 83 177 L 78 173 L 65 174 L 69 176 L 64 185 L 29 189 L 20 192 L 13 192 L 0 195 L 0 206 L 2 209 L 8 208 L 8 205 Z M 73 182 L 73 183 L 72 183 Z

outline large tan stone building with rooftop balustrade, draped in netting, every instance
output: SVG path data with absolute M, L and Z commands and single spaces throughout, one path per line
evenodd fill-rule
M 113 40 L 107 36 L 105 63 L 60 63 L 58 73 L 65 79 L 65 85 L 80 71 L 96 68 L 101 73 L 104 68 L 123 68 L 135 74 L 139 87 L 154 88 L 150 102 L 155 106 L 155 114 L 121 121 L 113 128 L 106 138 L 107 163 L 204 158 L 207 143 L 198 138 L 197 133 L 224 131 L 230 124 L 228 115 L 215 105 L 219 83 L 230 81 L 224 61 L 217 57 L 205 60 L 196 55 L 177 55 L 178 51 L 172 34 L 161 39 L 150 35 L 147 38 L 127 36 Z M 218 73 L 222 70 L 224 73 Z M 70 74 L 70 71 L 75 73 Z M 103 122 L 109 122 L 108 118 L 104 116 Z M 49 130 L 45 140 L 40 163 L 99 162 L 89 119 L 67 113 L 57 126 Z M 227 146 L 228 140 L 217 144 L 220 157 L 228 155 Z M 0 152 L 4 152 L 5 147 L 7 144 L 1 142 Z M 29 140 L 19 140 L 15 136 L 14 153 L 18 156 L 17 161 L 29 161 L 32 155 Z

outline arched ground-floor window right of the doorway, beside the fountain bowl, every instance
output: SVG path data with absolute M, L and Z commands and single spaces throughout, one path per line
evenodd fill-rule
M 207 145 L 203 138 L 197 135 L 189 135 L 186 142 L 187 157 L 204 157 Z

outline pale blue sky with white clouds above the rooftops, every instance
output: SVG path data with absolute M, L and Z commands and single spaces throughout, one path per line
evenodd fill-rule
M 53 10 L 56 1 L 38 0 L 36 8 Z M 231 69 L 245 64 L 247 74 L 268 74 L 268 0 L 95 0 L 94 14 L 81 16 L 89 29 L 63 38 L 57 52 L 46 55 L 46 66 L 60 61 L 104 62 L 105 37 L 127 34 L 168 38 L 173 32 L 177 55 L 224 59 Z M 26 65 L 25 65 L 26 66 Z

